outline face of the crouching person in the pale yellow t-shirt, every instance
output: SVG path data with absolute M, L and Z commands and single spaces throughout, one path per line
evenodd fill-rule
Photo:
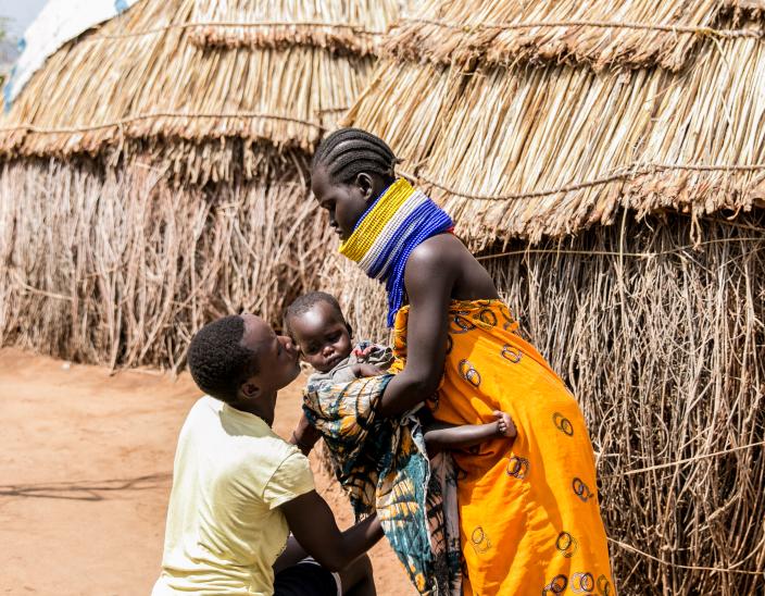
M 244 334 L 241 346 L 254 352 L 258 359 L 256 375 L 251 376 L 252 383 L 261 395 L 269 395 L 289 385 L 300 373 L 299 352 L 292 340 L 284 335 L 276 335 L 274 330 L 254 314 L 242 314 Z

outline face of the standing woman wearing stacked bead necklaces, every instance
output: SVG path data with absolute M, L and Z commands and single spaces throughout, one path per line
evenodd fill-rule
M 322 209 L 329 215 L 329 226 L 347 240 L 356 222 L 377 196 L 375 182 L 368 174 L 359 174 L 351 184 L 333 182 L 324 166 L 316 166 L 311 175 L 311 189 Z

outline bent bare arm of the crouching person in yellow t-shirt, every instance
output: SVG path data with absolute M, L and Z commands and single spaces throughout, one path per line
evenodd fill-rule
M 377 514 L 340 532 L 331 509 L 311 491 L 281 505 L 294 538 L 305 552 L 330 571 L 340 571 L 382 537 Z

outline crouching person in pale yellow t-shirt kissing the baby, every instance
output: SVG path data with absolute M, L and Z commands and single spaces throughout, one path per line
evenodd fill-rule
M 191 339 L 188 362 L 208 395 L 178 437 L 152 594 L 373 596 L 362 555 L 379 521 L 341 533 L 305 456 L 271 430 L 277 394 L 300 371 L 291 340 L 252 314 L 225 316 Z M 286 548 L 290 531 L 299 545 Z

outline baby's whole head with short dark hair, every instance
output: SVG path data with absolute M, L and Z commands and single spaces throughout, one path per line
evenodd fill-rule
M 351 353 L 351 326 L 335 297 L 312 291 L 287 308 L 285 327 L 303 360 L 318 372 L 333 370 Z

